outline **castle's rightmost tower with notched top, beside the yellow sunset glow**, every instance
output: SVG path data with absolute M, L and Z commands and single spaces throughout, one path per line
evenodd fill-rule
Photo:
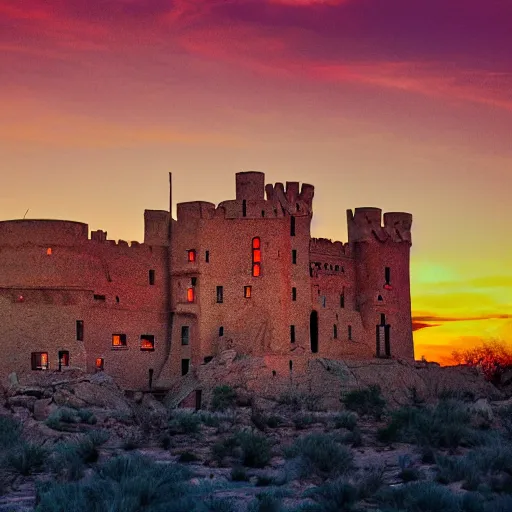
M 379 208 L 347 210 L 356 266 L 356 307 L 377 357 L 414 359 L 410 250 L 412 215 Z

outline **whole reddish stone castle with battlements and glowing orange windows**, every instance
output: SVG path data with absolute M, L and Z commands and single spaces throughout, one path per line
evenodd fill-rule
M 348 243 L 315 239 L 313 195 L 241 172 L 218 206 L 146 210 L 144 243 L 0 222 L 1 372 L 104 370 L 145 389 L 227 349 L 290 372 L 315 357 L 412 360 L 412 215 L 356 208 Z

